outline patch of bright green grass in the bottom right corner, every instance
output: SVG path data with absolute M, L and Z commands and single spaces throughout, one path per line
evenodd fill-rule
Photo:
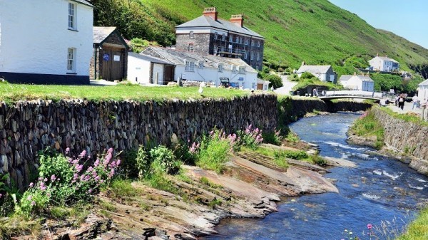
M 407 231 L 396 240 L 428 239 L 428 208 L 419 212 L 417 219 L 412 221 Z

